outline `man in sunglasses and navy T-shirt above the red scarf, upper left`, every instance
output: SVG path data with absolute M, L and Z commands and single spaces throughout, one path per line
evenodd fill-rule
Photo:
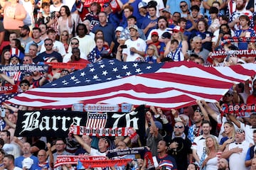
M 58 62 L 63 62 L 63 57 L 60 55 L 60 53 L 55 52 L 53 50 L 53 40 L 52 39 L 46 38 L 46 40 L 44 40 L 44 47 L 45 47 L 46 51 L 41 52 L 37 57 L 38 60 L 33 61 L 33 62 L 35 62 L 35 63 L 45 62 L 50 57 L 55 57 L 58 60 Z

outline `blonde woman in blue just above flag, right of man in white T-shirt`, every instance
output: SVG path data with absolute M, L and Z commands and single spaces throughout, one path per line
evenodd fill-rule
M 145 62 L 149 62 L 150 64 L 160 62 L 156 45 L 151 44 L 146 48 Z

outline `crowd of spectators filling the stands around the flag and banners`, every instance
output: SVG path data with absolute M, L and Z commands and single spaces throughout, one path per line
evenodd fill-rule
M 256 49 L 253 0 L 9 0 L 0 5 L 2 66 L 87 64 L 102 58 L 151 64 L 187 60 L 218 67 L 255 63 L 250 55 L 208 57 L 216 50 Z M 223 43 L 228 38 L 242 39 Z M 1 86 L 18 84 L 18 91 L 24 92 L 74 71 L 3 72 Z M 124 155 L 120 158 L 132 158 L 132 164 L 109 168 L 256 169 L 256 115 L 220 115 L 223 103 L 256 103 L 256 81 L 251 91 L 249 85 L 234 85 L 219 103 L 197 101 L 198 106 L 178 111 L 151 106 L 146 111 L 145 140 L 158 165 L 149 166 L 139 155 Z M 58 155 L 105 156 L 107 149 L 140 145 L 129 137 L 14 137 L 17 111 L 33 108 L 2 106 L 6 109 L 0 120 L 0 169 L 52 169 Z

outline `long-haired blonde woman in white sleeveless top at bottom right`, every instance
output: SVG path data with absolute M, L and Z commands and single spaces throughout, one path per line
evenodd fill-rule
M 206 137 L 206 157 L 201 165 L 201 169 L 216 170 L 218 169 L 218 153 L 219 145 L 215 136 Z M 202 156 L 203 157 L 203 156 Z

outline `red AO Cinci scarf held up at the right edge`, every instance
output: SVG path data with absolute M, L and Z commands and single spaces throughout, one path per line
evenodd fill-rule
M 250 117 L 251 113 L 256 113 L 256 104 L 224 104 L 223 113 L 235 114 L 239 117 Z

